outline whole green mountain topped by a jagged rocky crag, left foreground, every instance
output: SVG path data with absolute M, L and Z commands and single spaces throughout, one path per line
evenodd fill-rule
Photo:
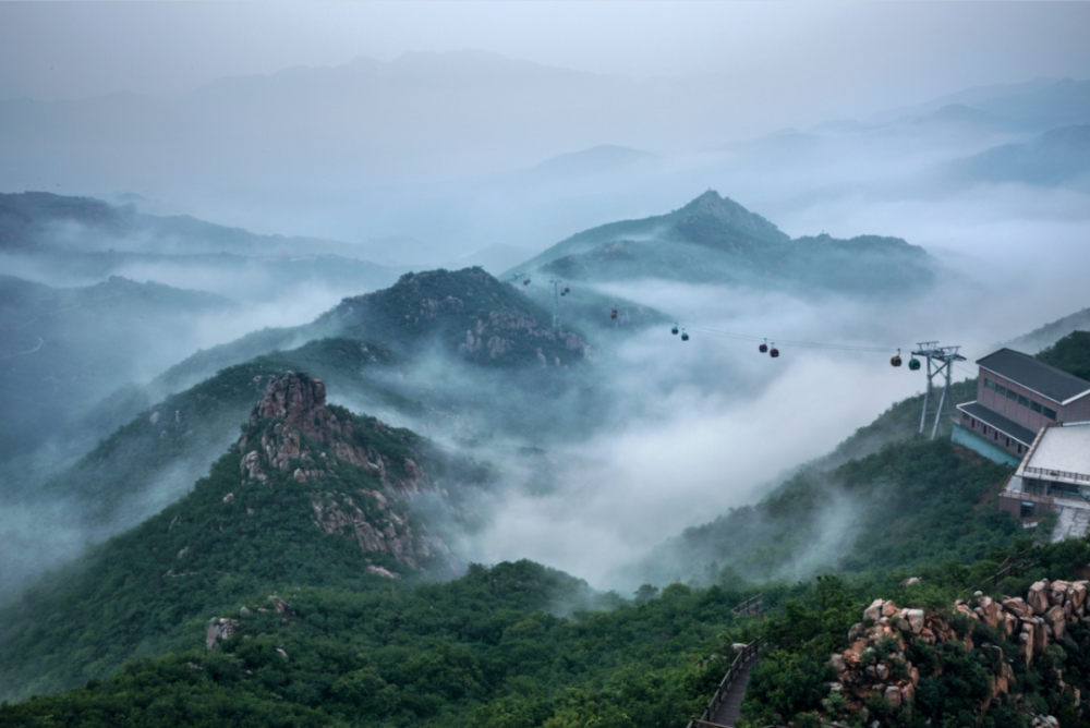
M 409 430 L 327 405 L 320 380 L 277 377 L 192 493 L 3 608 L 0 685 L 13 695 L 78 684 L 160 652 L 209 609 L 286 583 L 367 589 L 449 573 L 444 524 L 412 502 L 472 520 L 467 489 L 491 478 Z M 73 633 L 84 635 L 74 653 L 61 647 Z

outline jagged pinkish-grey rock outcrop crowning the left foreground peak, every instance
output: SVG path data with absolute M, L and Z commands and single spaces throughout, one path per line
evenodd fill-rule
M 408 499 L 431 488 L 427 473 L 411 457 L 392 456 L 392 447 L 383 447 L 412 452 L 410 435 L 377 420 L 361 423 L 346 410 L 329 408 L 320 379 L 288 372 L 268 383 L 239 440 L 242 475 L 268 485 L 276 481 L 313 488 L 312 520 L 323 532 L 419 569 L 433 557 L 449 560 L 450 551 L 414 526 L 408 510 Z M 338 461 L 364 471 L 361 487 L 349 489 L 342 478 L 326 478 Z M 274 478 L 276 472 L 290 476 Z M 330 488 L 331 483 L 340 487 Z M 375 568 L 380 572 L 374 573 L 396 577 Z

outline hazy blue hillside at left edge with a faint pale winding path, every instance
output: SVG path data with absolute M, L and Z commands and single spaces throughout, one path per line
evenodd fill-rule
M 196 338 L 202 317 L 238 310 L 211 293 L 118 276 L 53 288 L 0 275 L 0 462 L 33 450 L 167 359 L 171 345 Z

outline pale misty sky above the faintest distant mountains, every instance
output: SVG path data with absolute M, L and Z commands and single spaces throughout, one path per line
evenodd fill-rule
M 172 96 L 226 75 L 482 49 L 597 74 L 714 74 L 751 92 L 747 117 L 806 124 L 1090 76 L 1088 28 L 1085 2 L 0 2 L 0 99 Z

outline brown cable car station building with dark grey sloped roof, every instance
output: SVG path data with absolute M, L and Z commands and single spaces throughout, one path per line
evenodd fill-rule
M 1010 349 L 977 364 L 977 399 L 957 405 L 954 442 L 1019 465 L 1045 427 L 1090 422 L 1090 381 Z

